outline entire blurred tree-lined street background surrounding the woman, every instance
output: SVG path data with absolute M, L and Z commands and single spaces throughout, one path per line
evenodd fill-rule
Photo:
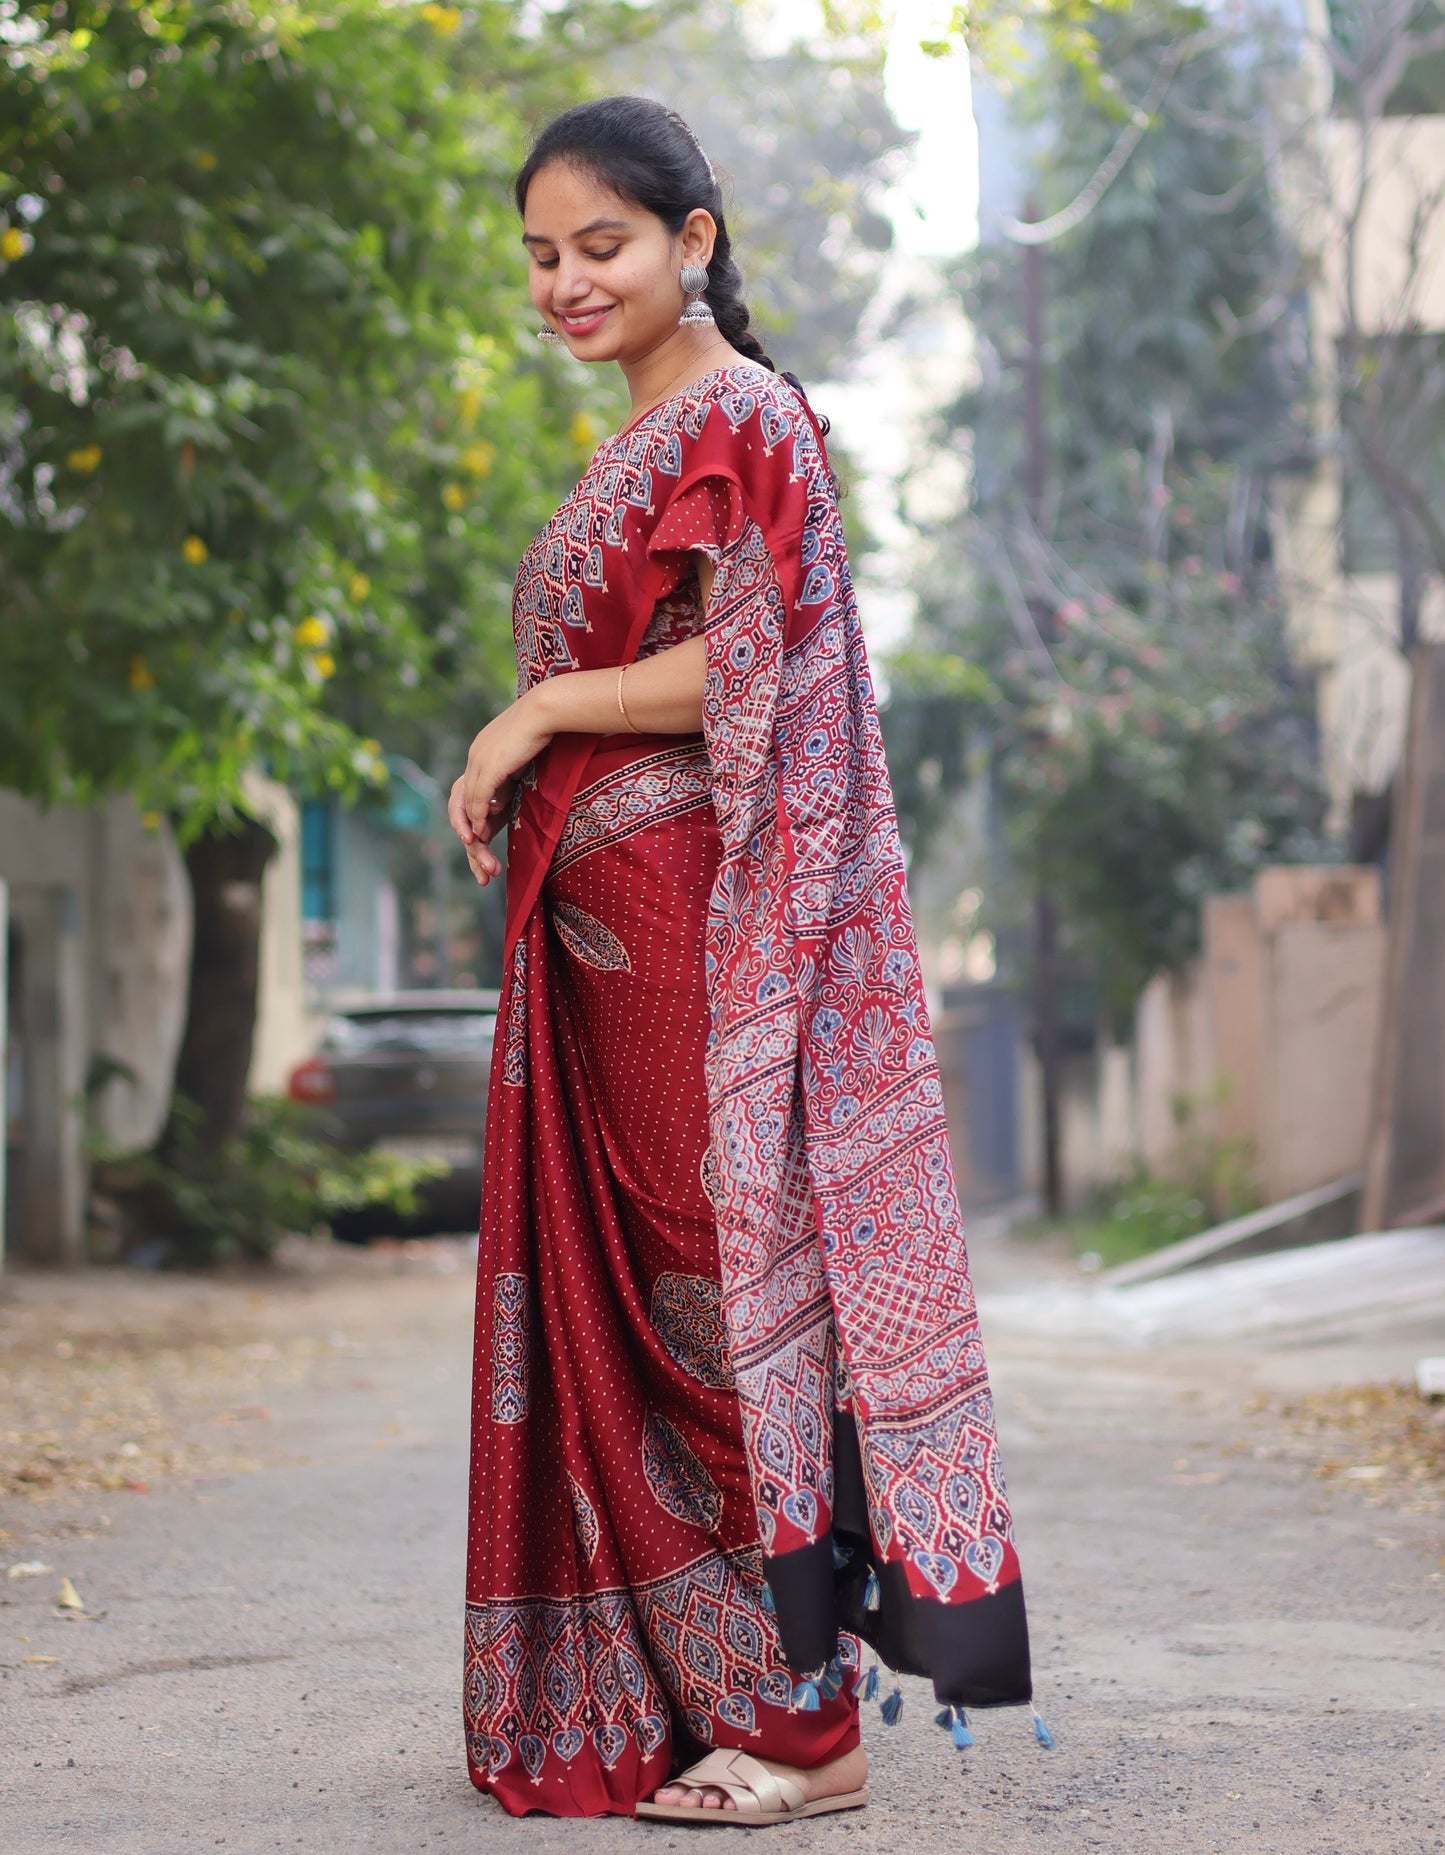
M 1445 1848 L 1436 0 L 0 0 L 6 1846 L 642 1833 L 456 1695 L 443 794 L 625 414 L 510 202 L 610 89 L 833 421 L 1059 1736 L 914 1688 L 792 1836 Z

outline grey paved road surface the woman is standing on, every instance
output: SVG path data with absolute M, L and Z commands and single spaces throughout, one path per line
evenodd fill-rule
M 976 1261 L 1009 1289 L 1059 1267 L 987 1237 Z M 469 1293 L 464 1269 L 408 1269 L 347 1280 L 345 1336 L 250 1426 L 254 1473 L 0 1514 L 7 1562 L 48 1560 L 104 1610 L 61 1619 L 54 1579 L 0 1586 L 7 1855 L 696 1846 L 703 1831 L 510 1822 L 466 1781 Z M 334 1317 L 325 1282 L 310 1295 Z M 243 1298 L 247 1336 L 267 1330 L 271 1291 Z M 872 1809 L 781 1831 L 788 1848 L 1445 1849 L 1441 1516 L 1321 1482 L 1278 1423 L 1245 1415 L 1260 1389 L 1387 1373 L 1417 1349 L 1400 1332 L 1369 1356 L 1163 1356 L 996 1332 L 1057 1749 L 1005 1712 L 959 1755 L 909 1682 L 900 1727 L 874 1712 L 866 1729 Z M 748 1831 L 705 1835 L 725 1855 Z

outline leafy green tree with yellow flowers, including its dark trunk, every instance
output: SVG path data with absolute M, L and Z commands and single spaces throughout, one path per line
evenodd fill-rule
M 356 792 L 510 683 L 512 562 L 601 427 L 508 182 L 646 22 L 0 0 L 0 783 L 176 822 L 202 1145 L 250 1054 L 249 770 Z

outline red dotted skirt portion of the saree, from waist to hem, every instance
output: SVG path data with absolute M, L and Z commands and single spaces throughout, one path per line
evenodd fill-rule
M 716 866 L 701 742 L 599 744 L 503 1002 L 464 1705 L 512 1814 L 631 1814 L 683 1747 L 857 1744 L 846 1688 L 796 1710 L 762 1580 L 709 1196 Z

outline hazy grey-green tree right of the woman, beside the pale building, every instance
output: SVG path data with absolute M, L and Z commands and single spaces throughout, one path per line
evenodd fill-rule
M 1098 22 L 1094 69 L 1039 58 L 1017 108 L 1042 139 L 1044 211 L 1080 198 L 1117 145 L 1111 98 L 1146 95 L 1198 28 L 1133 6 Z M 959 267 L 979 380 L 948 423 L 972 499 L 933 536 L 894 673 L 916 851 L 963 766 L 957 748 L 948 764 L 924 746 L 952 714 L 989 749 L 1015 892 L 1054 898 L 1117 1022 L 1193 950 L 1208 890 L 1319 853 L 1311 699 L 1289 666 L 1265 516 L 1300 382 L 1289 323 L 1250 323 L 1282 230 L 1254 143 L 1219 130 L 1258 121 L 1258 80 L 1248 46 L 1200 37 L 1113 186 L 1048 247 L 1042 484 L 1026 441 L 1024 254 L 998 243 Z M 974 686 L 940 694 L 948 664 L 972 666 Z

